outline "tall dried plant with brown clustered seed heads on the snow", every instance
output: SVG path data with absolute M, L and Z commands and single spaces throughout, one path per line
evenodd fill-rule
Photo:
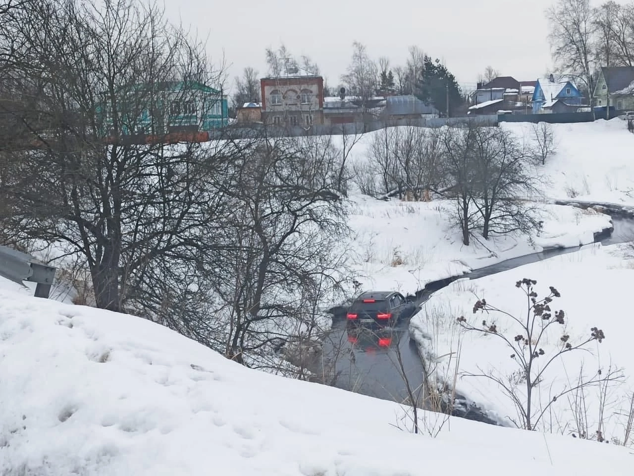
M 499 338 L 508 347 L 510 359 L 517 364 L 516 378 L 508 378 L 508 376 L 499 373 L 467 373 L 465 376 L 488 378 L 500 385 L 517 409 L 519 421 L 514 421 L 515 425 L 526 430 L 536 430 L 542 418 L 547 415 L 550 407 L 560 397 L 574 392 L 578 388 L 589 387 L 600 382 L 623 380 L 623 374 L 619 371 L 602 375 L 602 371 L 599 369 L 590 378 L 582 378 L 577 385 L 554 391 L 551 389 L 549 392 L 551 396 L 546 404 L 533 401 L 534 393 L 537 393 L 534 390 L 542 383 L 545 372 L 559 360 L 560 356 L 574 350 L 584 350 L 588 343 L 592 341 L 601 343 L 605 339 L 604 331 L 598 327 L 592 327 L 592 329 L 588 329 L 586 337 L 573 342 L 571 336 L 566 334 L 564 329 L 559 345 L 550 346 L 551 349 L 548 350 L 548 329 L 553 326 L 565 326 L 566 315 L 563 310 L 553 312 L 551 309 L 553 300 L 560 297 L 559 291 L 550 286 L 550 293 L 538 299 L 538 293 L 534 289 L 536 284 L 537 281 L 534 279 L 522 279 L 515 283 L 515 287 L 520 288 L 526 295 L 527 312 L 525 318 L 515 317 L 513 314 L 496 308 L 484 299 L 477 300 L 473 310 L 474 314 L 481 312 L 489 315 L 489 319 L 484 319 L 481 326 L 470 324 L 463 316 L 458 318 L 458 323 L 463 329 Z M 496 316 L 500 319 L 508 319 L 511 324 L 508 331 L 498 328 Z M 545 362 L 542 362 L 543 360 Z M 520 390 L 521 387 L 523 387 L 523 391 Z

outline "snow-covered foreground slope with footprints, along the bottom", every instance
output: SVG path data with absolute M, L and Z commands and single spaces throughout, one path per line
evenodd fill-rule
M 0 356 L 3 475 L 631 473 L 626 449 L 571 437 L 456 418 L 436 439 L 414 435 L 397 428 L 411 426 L 397 404 L 252 371 L 130 315 L 8 289 Z

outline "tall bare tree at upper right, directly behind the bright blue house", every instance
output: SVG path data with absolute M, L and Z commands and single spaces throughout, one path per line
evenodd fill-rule
M 595 86 L 595 18 L 590 0 L 558 0 L 547 9 L 553 59 L 566 74 L 581 79 L 589 97 Z

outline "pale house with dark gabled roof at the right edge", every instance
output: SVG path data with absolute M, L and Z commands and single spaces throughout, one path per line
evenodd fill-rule
M 602 67 L 593 98 L 597 106 L 610 105 L 616 110 L 634 110 L 634 67 Z

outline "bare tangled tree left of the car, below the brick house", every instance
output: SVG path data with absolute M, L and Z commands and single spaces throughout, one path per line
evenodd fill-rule
M 224 276 L 213 282 L 225 305 L 207 321 L 223 323 L 214 345 L 243 364 L 265 366 L 276 341 L 307 333 L 346 279 L 339 157 L 322 140 L 263 136 L 218 176 L 234 213 L 214 236 L 223 251 L 205 260 L 210 277 Z

